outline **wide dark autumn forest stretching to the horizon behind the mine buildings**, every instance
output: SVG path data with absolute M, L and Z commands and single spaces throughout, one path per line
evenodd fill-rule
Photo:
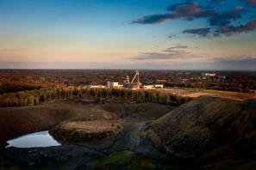
M 143 85 L 164 84 L 165 88 L 203 88 L 241 93 L 256 92 L 256 73 L 253 71 L 214 71 L 217 76 L 205 77 L 205 70 L 140 70 Z M 211 71 L 209 71 L 211 72 Z M 56 84 L 84 86 L 122 83 L 134 70 L 0 70 L 1 83 L 26 83 L 40 87 Z M 226 77 L 224 78 L 219 78 Z

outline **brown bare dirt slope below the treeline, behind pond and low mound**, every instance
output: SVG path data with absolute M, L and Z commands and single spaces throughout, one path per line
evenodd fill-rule
M 146 118 L 145 112 L 151 117 L 159 118 L 174 108 L 151 103 L 97 105 L 70 101 L 54 101 L 40 106 L 0 108 L 0 146 L 5 146 L 5 142 L 9 139 L 36 131 L 47 131 L 67 120 L 110 120 L 124 116 Z

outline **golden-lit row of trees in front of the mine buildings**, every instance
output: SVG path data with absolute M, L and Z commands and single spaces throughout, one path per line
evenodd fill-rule
M 89 100 L 104 102 L 153 102 L 179 106 L 189 97 L 182 97 L 155 90 L 107 88 L 41 88 L 0 95 L 0 106 L 34 106 L 50 100 Z

